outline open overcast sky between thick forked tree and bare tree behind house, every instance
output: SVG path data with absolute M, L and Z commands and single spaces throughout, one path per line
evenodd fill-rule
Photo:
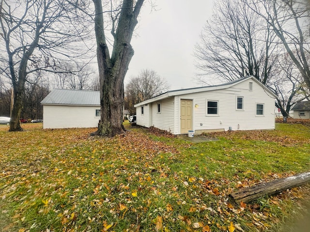
M 153 0 L 156 11 L 144 3 L 136 36 L 135 55 L 125 84 L 142 69 L 153 69 L 166 78 L 170 90 L 199 86 L 195 83 L 194 46 L 212 15 L 213 0 Z

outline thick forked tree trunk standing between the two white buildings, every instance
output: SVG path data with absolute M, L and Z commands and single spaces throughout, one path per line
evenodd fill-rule
M 102 1 L 93 0 L 101 104 L 101 122 L 96 134 L 112 137 L 125 131 L 123 126 L 124 77 L 134 55 L 130 42 L 143 2 L 144 0 L 123 0 L 121 5 L 113 8 L 110 1 L 109 13 L 106 14 L 111 18 L 111 34 L 114 39 L 110 55 Z

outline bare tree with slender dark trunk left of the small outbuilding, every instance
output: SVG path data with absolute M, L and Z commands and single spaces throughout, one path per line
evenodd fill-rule
M 71 46 L 89 36 L 87 27 L 75 17 L 77 4 L 66 0 L 0 2 L 0 70 L 14 88 L 10 131 L 22 130 L 19 117 L 29 74 L 38 70 L 55 72 L 60 59 L 83 53 L 83 46 Z

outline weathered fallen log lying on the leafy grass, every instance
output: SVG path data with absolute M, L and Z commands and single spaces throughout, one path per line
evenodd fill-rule
M 275 195 L 283 190 L 301 186 L 310 181 L 310 172 L 280 178 L 257 186 L 243 188 L 229 195 L 234 202 L 251 202 L 265 195 Z

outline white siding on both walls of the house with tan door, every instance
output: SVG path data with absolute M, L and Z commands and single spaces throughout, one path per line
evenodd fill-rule
M 251 84 L 250 84 L 251 83 Z M 249 91 L 251 86 L 252 91 Z M 209 91 L 190 92 L 179 90 L 180 94 L 162 98 L 161 113 L 158 114 L 158 100 L 144 104 L 144 117 L 137 106 L 137 124 L 145 127 L 154 126 L 161 130 L 180 134 L 180 101 L 192 100 L 192 129 L 225 130 L 269 130 L 275 129 L 275 96 L 264 89 L 254 77 L 228 88 Z M 175 93 L 175 92 L 172 92 Z M 238 109 L 237 99 L 242 97 L 242 110 Z M 207 101 L 218 102 L 217 116 L 207 115 Z M 241 103 L 241 102 L 240 102 Z M 263 103 L 263 116 L 256 116 L 256 103 Z M 197 107 L 194 107 L 197 104 Z M 147 110 L 146 107 L 150 108 Z

